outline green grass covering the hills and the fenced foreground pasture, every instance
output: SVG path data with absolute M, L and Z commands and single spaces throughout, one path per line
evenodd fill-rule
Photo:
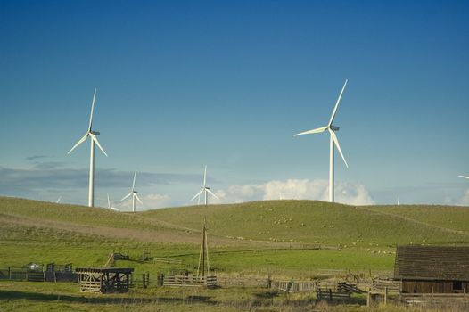
M 135 267 L 136 275 L 193 271 L 206 218 L 210 264 L 218 275 L 309 279 L 320 269 L 391 272 L 398 244 L 469 243 L 467 211 L 424 205 L 353 207 L 320 201 L 259 201 L 133 214 L 0 197 L 0 267 L 24 267 L 29 262 L 102 267 L 116 250 L 131 259 L 117 265 Z M 141 260 L 144 250 L 152 257 L 181 264 Z M 256 295 L 262 291 L 258 289 L 199 290 L 190 295 L 180 291 L 133 290 L 116 297 L 81 294 L 72 283 L 4 281 L 0 282 L 0 310 L 23 310 L 34 303 L 37 309 L 27 310 L 88 311 L 93 306 L 103 311 L 116 307 L 150 311 L 155 309 L 155 300 L 161 311 L 183 310 L 186 304 L 194 310 L 213 311 L 262 307 L 253 305 L 263 298 Z M 292 304 L 285 300 L 293 299 L 282 296 L 276 294 L 271 310 L 289 310 Z M 304 295 L 295 300 L 308 305 L 312 299 Z

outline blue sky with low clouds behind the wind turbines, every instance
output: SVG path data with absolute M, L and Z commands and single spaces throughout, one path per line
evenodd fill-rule
M 96 86 L 98 204 L 323 199 L 348 78 L 339 200 L 469 205 L 465 1 L 0 0 L 0 69 L 2 195 L 86 203 Z

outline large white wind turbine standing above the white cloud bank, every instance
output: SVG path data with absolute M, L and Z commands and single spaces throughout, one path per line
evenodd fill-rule
M 345 80 L 345 83 L 342 86 L 341 89 L 341 94 L 339 94 L 339 98 L 337 99 L 337 102 L 335 103 L 335 106 L 333 108 L 333 114 L 331 115 L 331 119 L 329 119 L 329 123 L 325 127 L 318 127 L 316 129 L 312 129 L 309 131 L 301 132 L 297 135 L 311 135 L 315 133 L 321 133 L 328 131 L 329 135 L 331 135 L 330 139 L 330 159 L 329 159 L 329 201 L 333 202 L 333 146 L 337 146 L 337 150 L 341 154 L 342 160 L 345 163 L 345 166 L 349 168 L 349 165 L 347 164 L 347 160 L 345 160 L 345 157 L 343 157 L 342 151 L 341 151 L 341 145 L 339 144 L 339 140 L 337 139 L 337 135 L 335 135 L 336 131 L 339 131 L 339 127 L 333 126 L 333 119 L 335 117 L 335 113 L 337 112 L 337 108 L 339 107 L 339 103 L 341 102 L 341 97 L 343 94 L 343 90 L 345 89 L 345 86 L 347 86 L 347 81 Z

